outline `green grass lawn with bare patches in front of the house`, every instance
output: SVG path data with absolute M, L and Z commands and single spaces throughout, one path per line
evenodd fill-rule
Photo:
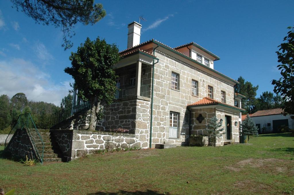
M 34 167 L 0 159 L 0 187 L 16 194 L 294 194 L 294 137 L 249 143 L 108 152 Z

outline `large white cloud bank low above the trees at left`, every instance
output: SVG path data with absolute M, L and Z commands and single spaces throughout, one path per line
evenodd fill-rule
M 33 63 L 14 58 L 0 61 L 0 95 L 9 97 L 16 93 L 26 94 L 29 100 L 44 101 L 60 105 L 61 99 L 68 94 L 72 80 L 55 84 L 50 75 L 41 71 Z

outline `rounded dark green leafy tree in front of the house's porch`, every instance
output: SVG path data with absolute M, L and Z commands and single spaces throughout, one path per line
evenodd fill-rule
M 71 52 L 71 67 L 66 67 L 64 71 L 73 77 L 71 86 L 74 90 L 78 89 L 78 96 L 91 102 L 89 130 L 96 127 L 101 105 L 110 104 L 114 99 L 116 75 L 113 66 L 119 59 L 117 46 L 107 44 L 99 37 L 94 41 L 87 38 L 76 52 Z

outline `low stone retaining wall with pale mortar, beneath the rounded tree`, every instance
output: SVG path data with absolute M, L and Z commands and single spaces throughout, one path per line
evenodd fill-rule
M 112 133 L 88 130 L 50 130 L 50 135 L 59 145 L 67 161 L 88 155 L 97 150 L 147 148 L 140 136 L 129 133 Z M 138 137 L 138 138 L 137 138 Z M 145 139 L 144 139 L 145 140 Z

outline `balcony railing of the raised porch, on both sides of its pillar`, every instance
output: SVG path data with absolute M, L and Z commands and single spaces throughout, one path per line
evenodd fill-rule
M 150 97 L 150 84 L 140 86 L 140 96 Z M 119 89 L 116 90 L 115 99 L 124 98 L 128 96 L 136 96 L 136 88 L 134 85 L 121 85 Z

